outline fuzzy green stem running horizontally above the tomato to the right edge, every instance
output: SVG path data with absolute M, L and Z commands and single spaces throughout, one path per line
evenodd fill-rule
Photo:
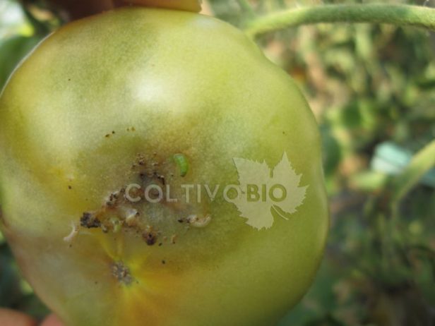
M 245 32 L 267 32 L 316 23 L 386 23 L 435 30 L 435 8 L 394 4 L 322 5 L 272 13 L 252 20 Z

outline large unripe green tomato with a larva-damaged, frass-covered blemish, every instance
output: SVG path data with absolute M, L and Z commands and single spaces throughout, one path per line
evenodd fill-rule
M 323 255 L 320 153 L 297 86 L 242 32 L 123 8 L 8 81 L 1 229 L 68 326 L 273 325 Z

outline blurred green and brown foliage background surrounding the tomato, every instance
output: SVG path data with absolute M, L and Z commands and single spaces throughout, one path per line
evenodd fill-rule
M 298 6 L 374 1 L 252 0 L 254 15 Z M 378 1 L 379 2 L 379 1 Z M 382 1 L 435 6 L 435 1 Z M 242 27 L 236 0 L 203 13 Z M 0 88 L 68 13 L 46 1 L 0 0 Z M 258 44 L 297 81 L 323 136 L 332 224 L 316 282 L 280 326 L 435 325 L 435 170 L 387 207 L 388 181 L 435 138 L 435 34 L 391 25 L 312 25 Z M 48 313 L 0 234 L 0 306 Z

